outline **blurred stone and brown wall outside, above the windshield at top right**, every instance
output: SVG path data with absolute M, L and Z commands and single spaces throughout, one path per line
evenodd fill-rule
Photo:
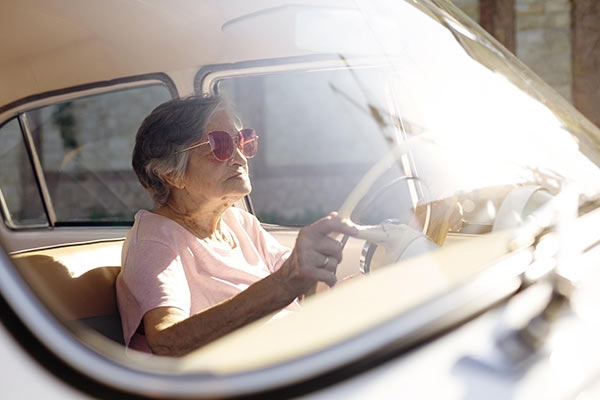
M 452 2 L 600 126 L 600 1 Z

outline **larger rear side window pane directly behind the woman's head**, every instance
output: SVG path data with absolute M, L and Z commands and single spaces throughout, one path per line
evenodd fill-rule
M 27 113 L 57 225 L 127 224 L 152 206 L 131 167 L 135 134 L 168 89 L 150 85 Z

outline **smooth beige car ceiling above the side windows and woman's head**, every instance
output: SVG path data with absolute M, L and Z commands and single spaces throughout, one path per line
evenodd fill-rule
M 40 93 L 206 64 L 268 58 L 293 41 L 300 1 L 24 0 L 0 4 L 0 112 Z M 340 3 L 339 1 L 337 3 Z M 269 24 L 265 24 L 265 20 Z M 23 23 L 23 21 L 29 21 Z M 293 26 L 293 24 L 289 24 Z M 271 25 L 272 26 L 272 25 Z M 281 26 L 281 25 L 280 25 Z M 269 46 L 252 43 L 268 41 Z M 291 54 L 290 54 L 291 55 Z

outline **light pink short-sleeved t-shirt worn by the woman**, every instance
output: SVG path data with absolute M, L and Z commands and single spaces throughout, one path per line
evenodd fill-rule
M 144 314 L 177 307 L 190 316 L 228 299 L 281 267 L 290 249 L 250 213 L 230 207 L 221 229 L 236 246 L 208 246 L 175 221 L 139 211 L 123 245 L 117 301 L 125 344 L 150 352 L 138 333 Z M 292 303 L 289 308 L 297 308 Z

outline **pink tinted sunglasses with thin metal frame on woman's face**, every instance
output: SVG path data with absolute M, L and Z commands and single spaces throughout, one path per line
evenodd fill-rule
M 225 131 L 212 131 L 208 133 L 208 140 L 202 143 L 196 143 L 185 149 L 179 150 L 177 153 L 183 153 L 209 144 L 212 153 L 219 161 L 227 161 L 233 155 L 234 149 L 237 147 L 246 158 L 252 158 L 258 151 L 258 136 L 254 129 L 246 128 L 238 132 L 237 143 L 233 142 L 231 135 Z

